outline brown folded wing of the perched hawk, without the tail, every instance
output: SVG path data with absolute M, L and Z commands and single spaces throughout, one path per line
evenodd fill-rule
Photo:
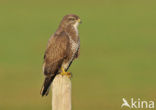
M 51 76 L 56 74 L 68 55 L 69 38 L 65 32 L 55 34 L 49 39 L 44 57 L 44 74 Z

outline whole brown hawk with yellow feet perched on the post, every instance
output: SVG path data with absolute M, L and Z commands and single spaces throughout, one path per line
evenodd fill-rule
M 79 16 L 69 14 L 63 17 L 58 29 L 48 41 L 44 54 L 43 72 L 45 80 L 41 88 L 41 95 L 48 95 L 49 87 L 57 74 L 71 76 L 67 72 L 73 60 L 80 53 L 80 39 L 78 25 Z

